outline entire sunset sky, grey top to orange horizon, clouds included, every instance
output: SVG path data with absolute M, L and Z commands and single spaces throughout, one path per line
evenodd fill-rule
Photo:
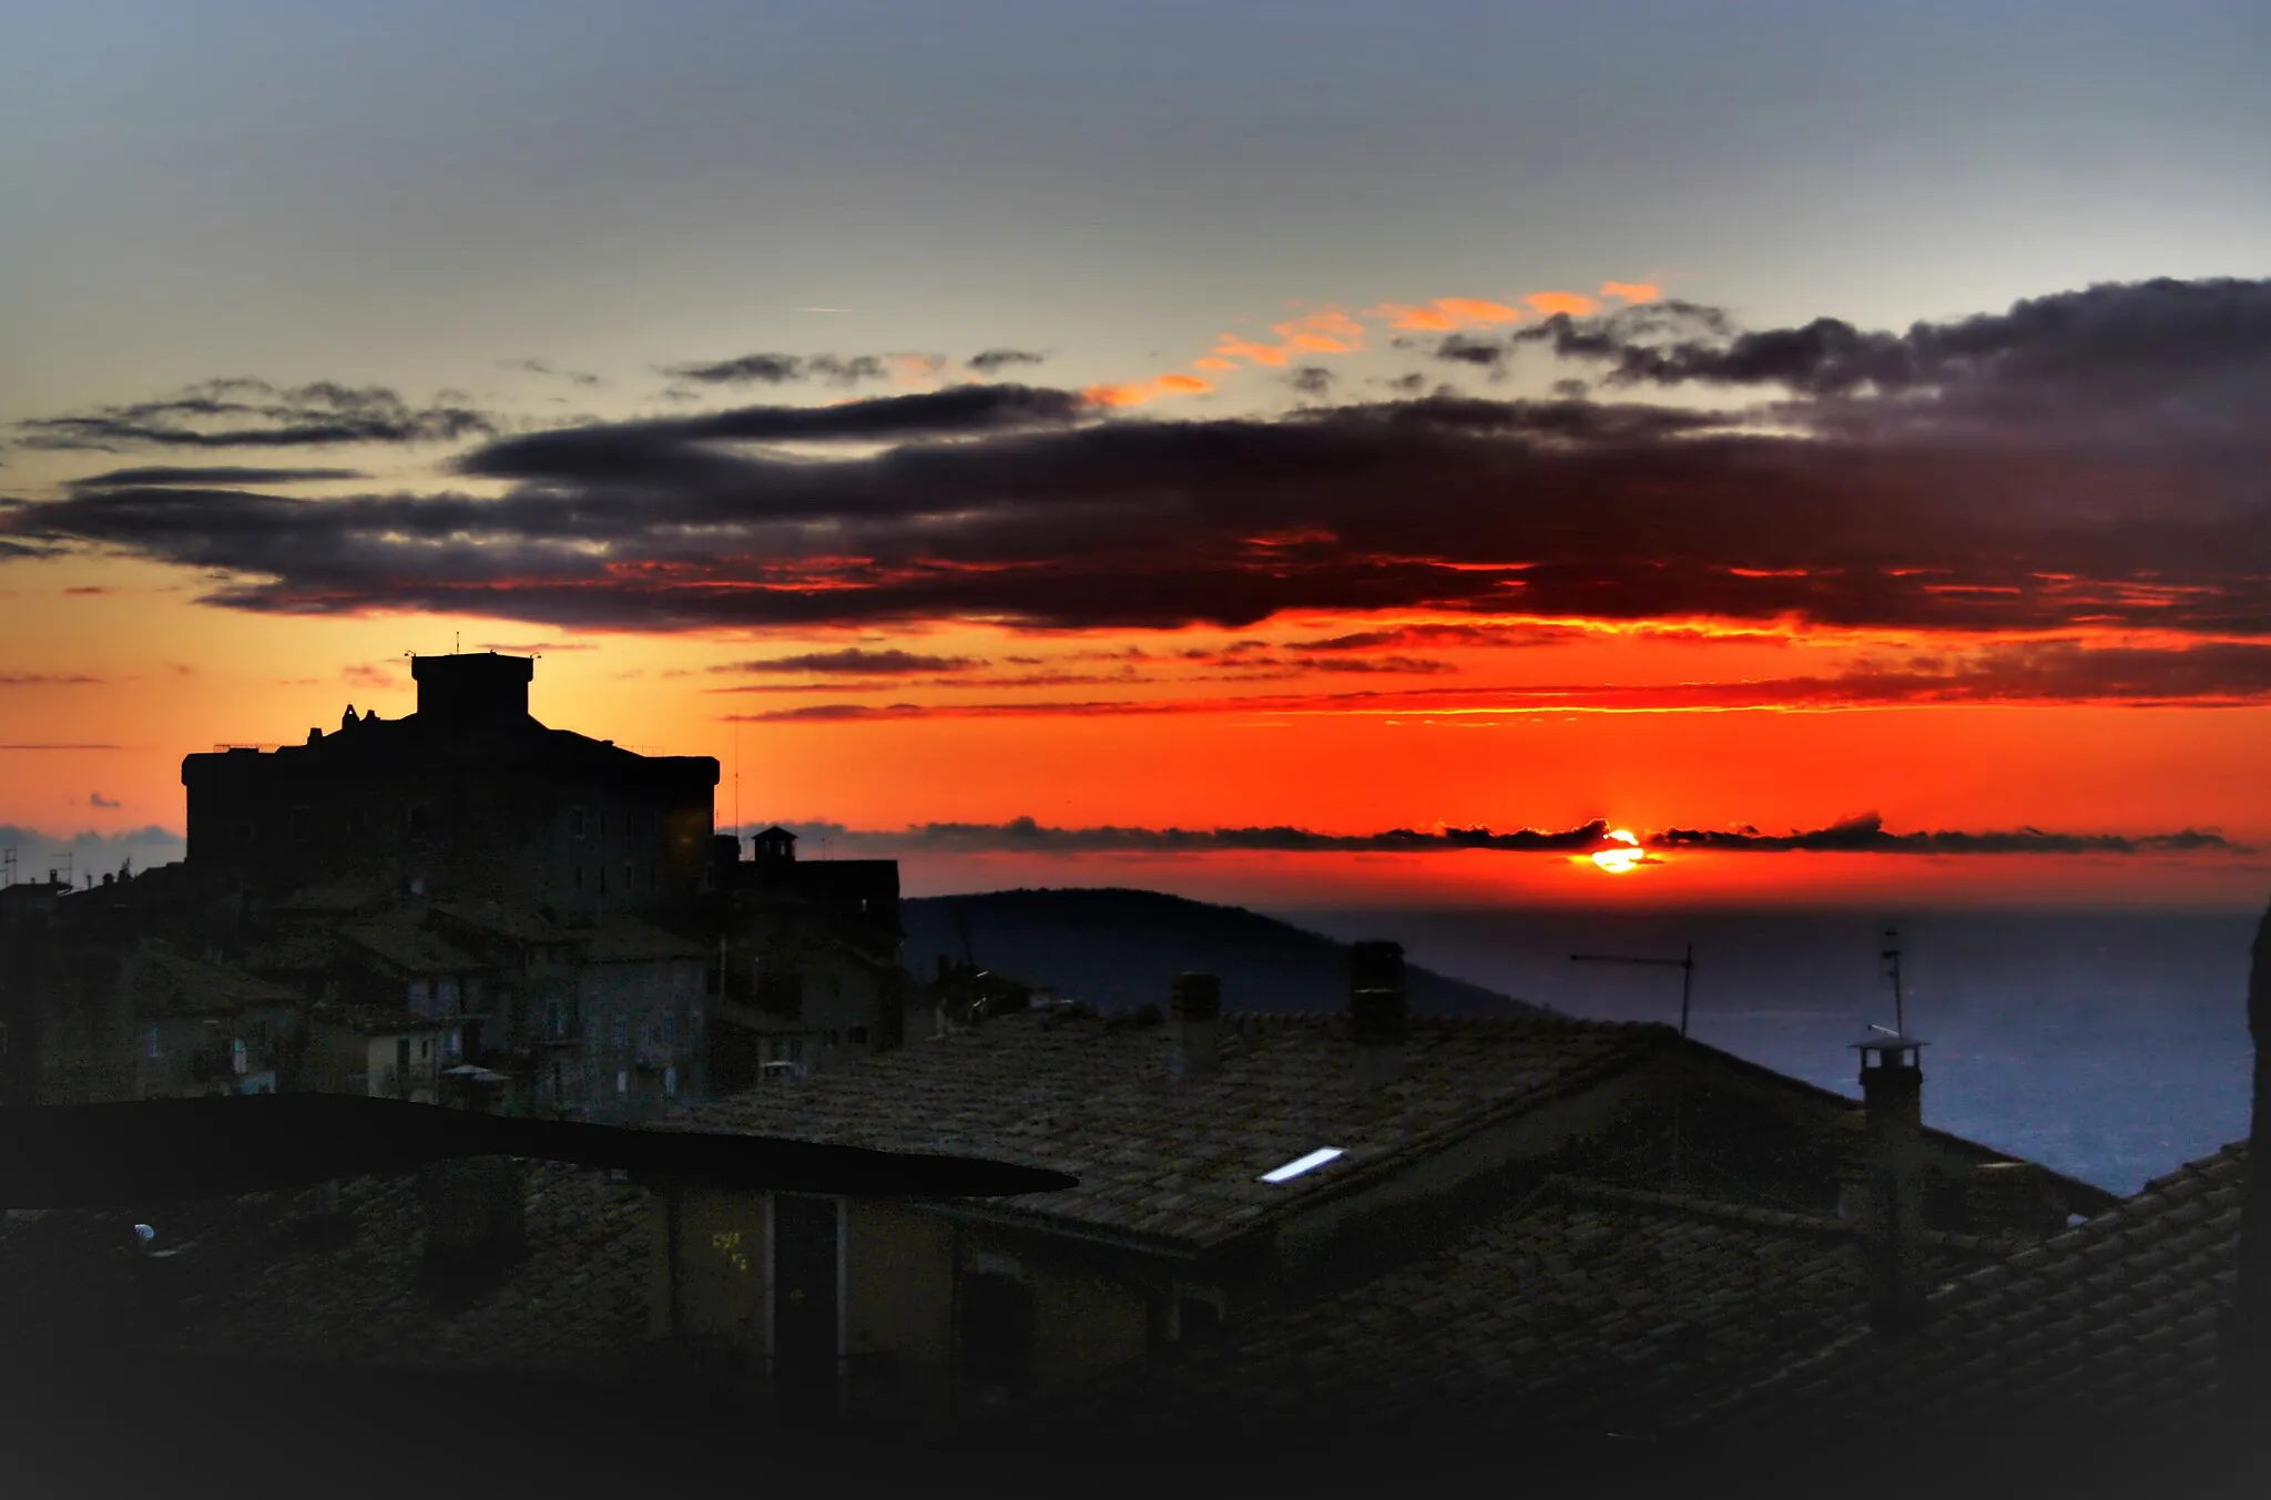
M 2264 57 L 18 0 L 0 837 L 461 647 L 915 894 L 2260 903 Z

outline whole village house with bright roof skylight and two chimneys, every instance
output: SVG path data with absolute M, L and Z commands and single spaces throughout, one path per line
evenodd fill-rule
M 1358 944 L 1344 1017 L 988 1017 L 749 1089 L 674 1128 L 952 1151 L 1079 1187 L 915 1205 L 659 1185 L 654 1332 L 738 1359 L 783 1411 L 952 1421 L 1217 1337 L 1440 1248 L 1553 1173 L 1835 1221 L 1849 1098 L 1662 1026 L 1408 1019 L 1401 951 Z M 1917 1178 L 2008 1162 L 1917 1130 Z M 2028 1173 L 2037 1219 L 2110 1194 Z M 1846 1194 L 1849 1196 L 1849 1194 Z M 1960 1221 L 1949 1194 L 1937 1216 Z M 1935 1230 L 1951 1232 L 1951 1230 Z

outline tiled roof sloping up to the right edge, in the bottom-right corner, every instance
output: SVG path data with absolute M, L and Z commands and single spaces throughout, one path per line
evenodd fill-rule
M 2232 1305 L 2246 1144 L 1937 1291 L 1908 1341 L 1846 1334 L 1690 1421 L 2160 1421 L 2210 1407 Z

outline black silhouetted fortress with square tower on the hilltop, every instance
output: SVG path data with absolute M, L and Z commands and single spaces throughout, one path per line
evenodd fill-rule
M 527 656 L 416 656 L 418 713 L 354 708 L 275 751 L 186 756 L 188 860 L 261 894 L 397 890 L 663 912 L 711 860 L 711 756 L 638 756 L 529 717 Z

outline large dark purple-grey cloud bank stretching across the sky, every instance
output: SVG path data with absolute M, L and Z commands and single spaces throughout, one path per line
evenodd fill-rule
M 506 495 L 295 499 L 225 470 L 118 470 L 0 508 L 0 547 L 95 545 L 270 613 L 459 610 L 597 629 L 1242 629 L 1281 610 L 1794 620 L 1942 631 L 2271 631 L 2271 281 L 2151 281 L 1862 331 L 1742 331 L 1694 304 L 1553 318 L 1556 399 L 1108 415 L 970 384 L 495 438 L 479 413 L 223 381 L 18 429 L 43 447 L 491 438 Z M 686 368 L 774 381 L 747 356 Z M 838 356 L 795 356 L 829 374 Z M 970 361 L 1029 363 L 997 349 Z M 779 379 L 790 379 L 781 374 Z M 1319 386 L 1322 388 L 1322 386 Z M 1621 390 L 1601 402 L 1583 390 Z M 1749 402 L 1699 411 L 1651 390 Z M 849 445 L 833 458 L 765 445 Z M 2262 692 L 2255 656 L 2114 660 Z M 1933 665 L 1949 674 L 1955 667 Z M 2067 674 L 2073 674 L 2071 663 Z

